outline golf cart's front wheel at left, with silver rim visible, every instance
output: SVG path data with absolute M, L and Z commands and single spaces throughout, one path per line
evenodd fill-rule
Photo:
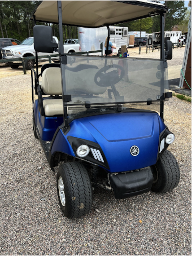
M 83 164 L 68 162 L 60 166 L 57 194 L 61 210 L 67 218 L 79 218 L 91 210 L 92 185 Z

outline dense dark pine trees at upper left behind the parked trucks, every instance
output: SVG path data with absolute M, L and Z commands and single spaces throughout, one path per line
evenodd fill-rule
M 16 38 L 20 41 L 33 36 L 34 22 L 29 20 L 39 1 L 0 1 L 0 37 Z M 53 28 L 53 36 L 59 38 L 57 24 L 40 23 Z M 64 26 L 63 38 L 78 38 L 77 27 Z

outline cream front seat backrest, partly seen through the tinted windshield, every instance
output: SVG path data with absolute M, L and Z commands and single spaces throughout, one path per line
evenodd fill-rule
M 95 84 L 94 76 L 98 71 L 94 65 L 80 64 L 74 68 L 66 66 L 65 80 L 67 93 L 70 94 L 103 94 L 107 87 Z M 46 68 L 42 73 L 41 88 L 46 95 L 60 95 L 61 73 L 59 67 Z

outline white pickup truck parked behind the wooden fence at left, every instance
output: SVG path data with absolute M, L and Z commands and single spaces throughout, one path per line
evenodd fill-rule
M 53 42 L 59 44 L 58 38 L 56 36 L 53 36 Z M 74 47 L 73 47 L 74 46 Z M 79 52 L 80 45 L 78 43 L 75 44 L 64 44 L 64 53 L 72 53 L 72 52 Z M 33 57 L 35 56 L 35 50 L 34 50 L 34 43 L 33 43 L 33 37 L 28 37 L 25 40 L 21 42 L 20 45 L 14 45 L 14 46 L 7 46 L 4 47 L 1 50 L 2 53 L 2 59 L 14 59 L 18 57 Z M 38 56 L 43 55 L 52 55 L 57 54 L 58 52 L 53 53 L 44 53 L 44 52 L 38 52 Z M 58 57 L 52 57 L 53 61 L 59 60 Z M 40 61 L 44 61 L 47 59 L 39 59 Z M 25 67 L 27 70 L 34 67 L 35 60 L 24 60 Z M 9 61 L 7 64 L 11 68 L 18 68 L 21 65 L 21 61 Z

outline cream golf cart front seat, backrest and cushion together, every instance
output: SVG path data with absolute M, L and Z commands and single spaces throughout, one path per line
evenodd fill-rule
M 101 87 L 95 84 L 94 76 L 98 71 L 98 67 L 88 64 L 80 64 L 74 68 L 66 66 L 65 80 L 67 94 L 71 94 L 72 102 L 70 104 L 79 104 L 90 101 L 94 103 L 102 103 L 103 98 L 92 96 L 103 94 L 107 87 Z M 87 74 L 89 74 L 87 76 Z M 42 92 L 44 95 L 51 95 L 50 97 L 42 98 L 42 115 L 58 116 L 63 115 L 63 101 L 61 73 L 60 68 L 48 67 L 43 70 L 42 80 L 40 82 L 39 96 Z M 54 96 L 53 96 L 54 95 Z M 94 100 L 93 100 L 94 99 Z

